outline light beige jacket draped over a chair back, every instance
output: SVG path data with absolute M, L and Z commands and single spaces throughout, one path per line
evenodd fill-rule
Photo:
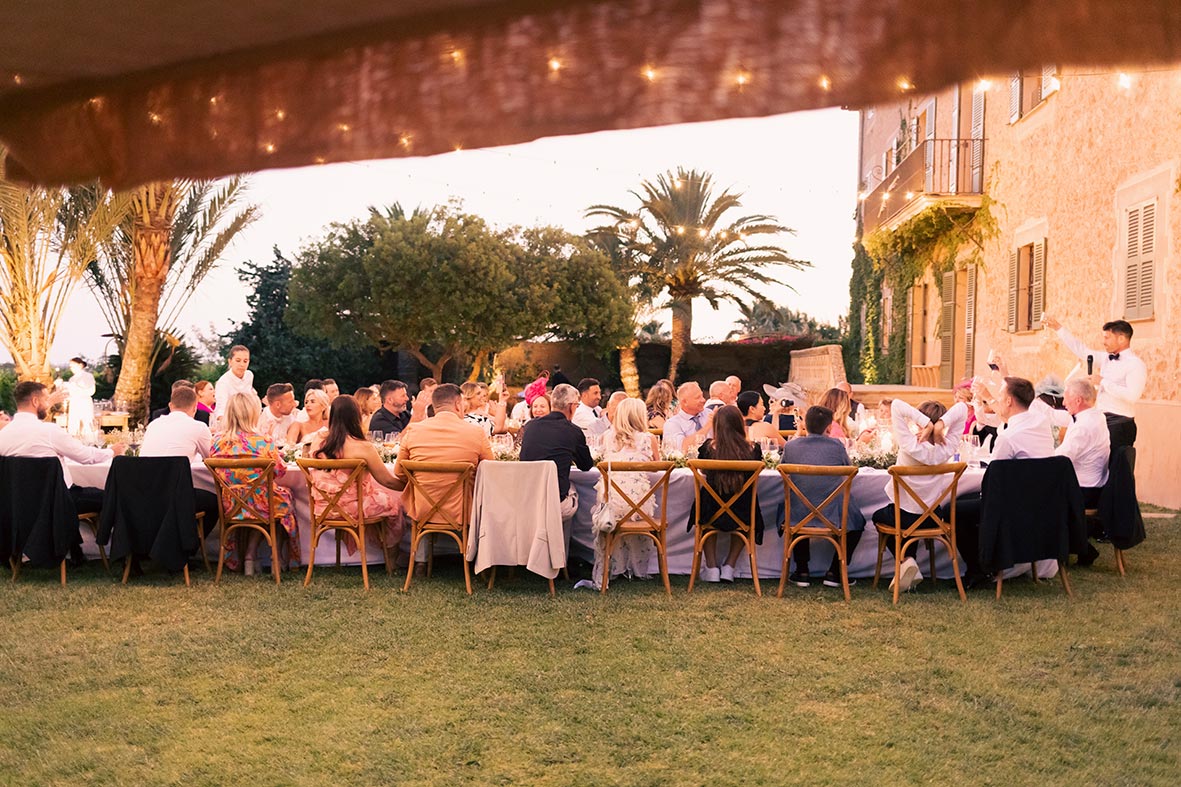
M 468 560 L 476 573 L 490 566 L 526 566 L 553 579 L 566 565 L 566 536 L 553 462 L 481 462 Z

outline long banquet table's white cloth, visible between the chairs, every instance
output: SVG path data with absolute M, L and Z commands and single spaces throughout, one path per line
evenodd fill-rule
M 110 464 L 74 464 L 70 463 L 70 473 L 73 482 L 78 486 L 103 488 L 106 484 L 106 475 Z M 980 482 L 984 477 L 983 469 L 968 469 L 964 473 L 959 483 L 959 494 L 968 494 L 980 490 Z M 203 464 L 193 467 L 194 486 L 200 489 L 213 490 L 213 477 Z M 595 502 L 595 483 L 599 481 L 599 470 L 570 470 L 570 481 L 579 493 L 579 509 L 573 523 L 570 538 L 570 553 L 585 560 L 594 558 L 594 540 L 590 532 L 590 509 Z M 304 474 L 294 464 L 289 466 L 287 473 L 278 480 L 278 483 L 292 490 L 292 499 L 295 505 L 295 518 L 300 528 L 300 546 L 302 548 L 302 562 L 308 560 L 308 545 L 311 539 L 311 509 L 308 502 L 307 482 Z M 849 502 L 850 508 L 856 507 L 868 521 L 875 510 L 887 505 L 886 496 L 889 474 L 886 470 L 862 468 L 853 481 L 853 493 Z M 778 579 L 779 568 L 783 561 L 783 539 L 779 538 L 777 522 L 783 519 L 783 482 L 776 470 L 765 470 L 758 481 L 758 501 L 763 510 L 763 521 L 766 531 L 763 535 L 763 544 L 758 547 L 758 575 L 759 578 Z M 690 507 L 693 502 L 693 475 L 687 468 L 673 470 L 668 486 L 668 572 L 673 574 L 687 574 L 692 566 L 693 536 L 686 531 Z M 87 534 L 85 549 L 87 553 L 97 555 L 97 548 L 90 541 Z M 725 538 L 725 536 L 720 536 Z M 216 536 L 207 539 L 207 549 L 211 557 L 217 554 Z M 405 528 L 402 542 L 403 560 L 410 549 L 410 528 Z M 439 553 L 457 552 L 449 540 L 441 539 L 437 544 Z M 828 570 L 833 558 L 833 549 L 824 542 L 814 541 L 811 547 L 811 564 L 809 571 L 815 574 L 823 574 Z M 927 557 L 926 547 L 920 546 L 916 555 L 919 565 L 926 573 Z M 941 578 L 952 577 L 952 562 L 946 551 L 941 546 L 935 548 L 935 570 Z M 335 540 L 332 534 L 325 534 L 320 539 L 315 553 L 318 565 L 328 565 L 337 559 Z M 380 562 L 380 552 L 371 554 L 371 561 Z M 849 575 L 873 577 L 874 564 L 877 559 L 877 532 L 872 525 L 866 527 L 866 533 L 857 545 L 849 561 Z M 358 554 L 348 555 L 342 551 L 341 562 L 357 565 L 360 561 Z M 652 560 L 651 571 L 657 572 L 655 558 Z M 883 560 L 882 575 L 890 575 L 893 565 L 890 560 Z M 1039 571 L 1039 575 L 1040 575 Z M 738 577 L 750 577 L 750 564 L 745 555 L 738 560 L 736 570 Z

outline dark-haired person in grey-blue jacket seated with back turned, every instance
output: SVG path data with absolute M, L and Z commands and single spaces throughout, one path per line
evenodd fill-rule
M 849 455 L 844 450 L 844 445 L 841 444 L 839 440 L 828 436 L 828 428 L 833 424 L 833 411 L 824 406 L 811 406 L 808 408 L 808 412 L 804 414 L 804 428 L 808 430 L 808 435 L 804 437 L 797 437 L 788 442 L 783 447 L 783 458 L 781 460 L 784 464 L 814 464 L 820 467 L 849 467 Z M 836 489 L 842 480 L 839 477 L 823 477 L 813 475 L 795 475 L 791 476 L 796 487 L 800 488 L 802 493 L 808 496 L 814 506 L 818 506 L 824 501 L 824 499 Z M 794 495 L 794 493 L 792 493 Z M 829 506 L 821 512 L 835 525 L 841 523 L 841 501 L 834 500 Z M 791 525 L 798 525 L 800 521 L 807 518 L 809 514 L 808 506 L 802 501 L 792 496 L 791 500 Z M 823 526 L 823 522 L 813 519 L 809 525 L 815 525 L 817 527 Z M 856 506 L 849 505 L 849 519 L 847 523 L 846 533 L 846 561 L 853 557 L 853 553 L 857 548 L 857 544 L 861 541 L 861 533 L 866 529 L 866 518 L 861 515 L 861 512 Z M 782 533 L 781 533 L 782 535 Z M 796 560 L 795 572 L 788 577 L 788 579 L 797 585 L 798 587 L 808 587 L 811 585 L 813 579 L 808 571 L 808 564 L 811 560 L 811 548 L 809 541 L 805 539 L 800 541 L 795 548 L 791 551 L 791 557 Z M 857 580 L 849 578 L 849 584 L 854 585 Z M 828 567 L 828 573 L 824 574 L 824 585 L 827 587 L 841 587 L 841 555 L 834 554 L 833 562 Z

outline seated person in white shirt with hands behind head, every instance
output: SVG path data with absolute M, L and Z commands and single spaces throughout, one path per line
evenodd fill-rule
M 915 409 L 902 399 L 893 399 L 890 402 L 890 427 L 894 444 L 898 445 L 898 464 L 913 467 L 951 462 L 955 451 L 959 450 L 966 417 L 967 406 L 963 403 L 952 405 L 952 409 L 947 410 L 939 402 L 924 402 Z M 918 434 L 911 430 L 912 424 L 918 428 Z M 907 479 L 907 483 L 922 497 L 924 503 L 929 503 L 938 499 L 951 482 L 947 476 L 916 476 Z M 875 522 L 894 527 L 895 507 L 902 509 L 902 527 L 909 527 L 922 515 L 925 506 L 909 494 L 903 494 L 902 500 L 894 500 L 893 479 L 886 482 L 886 496 L 890 503 L 874 512 L 873 520 Z M 976 544 L 973 542 L 971 548 L 966 548 L 959 529 L 957 529 L 957 539 L 971 572 L 978 560 Z M 886 549 L 893 554 L 892 539 L 887 538 Z M 890 580 L 890 588 L 898 583 L 901 590 L 908 591 L 920 581 L 922 581 L 922 572 L 919 571 L 919 562 L 913 557 L 908 557 L 902 561 L 899 574 Z

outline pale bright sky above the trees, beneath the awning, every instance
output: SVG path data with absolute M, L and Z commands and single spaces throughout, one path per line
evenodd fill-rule
M 583 217 L 588 206 L 633 206 L 631 189 L 676 167 L 706 170 L 719 190 L 742 193 L 735 216 L 770 214 L 796 230 L 781 242 L 813 267 L 776 271 L 779 284 L 765 290 L 769 299 L 829 323 L 848 311 L 857 116 L 831 109 L 257 173 L 249 176 L 248 197 L 261 217 L 230 246 L 178 326 L 190 339 L 228 331 L 247 314 L 247 291 L 235 273 L 242 261 L 265 262 L 274 246 L 291 255 L 327 225 L 365 216 L 368 206 L 400 202 L 409 210 L 458 200 L 497 227 L 557 225 L 581 233 L 590 226 Z M 696 303 L 693 339 L 724 339 L 737 314 L 732 305 L 715 312 Z M 660 317 L 667 324 L 667 311 Z M 79 284 L 51 358 L 98 358 L 111 351 L 105 332 L 98 305 Z M 0 360 L 9 358 L 0 351 Z

